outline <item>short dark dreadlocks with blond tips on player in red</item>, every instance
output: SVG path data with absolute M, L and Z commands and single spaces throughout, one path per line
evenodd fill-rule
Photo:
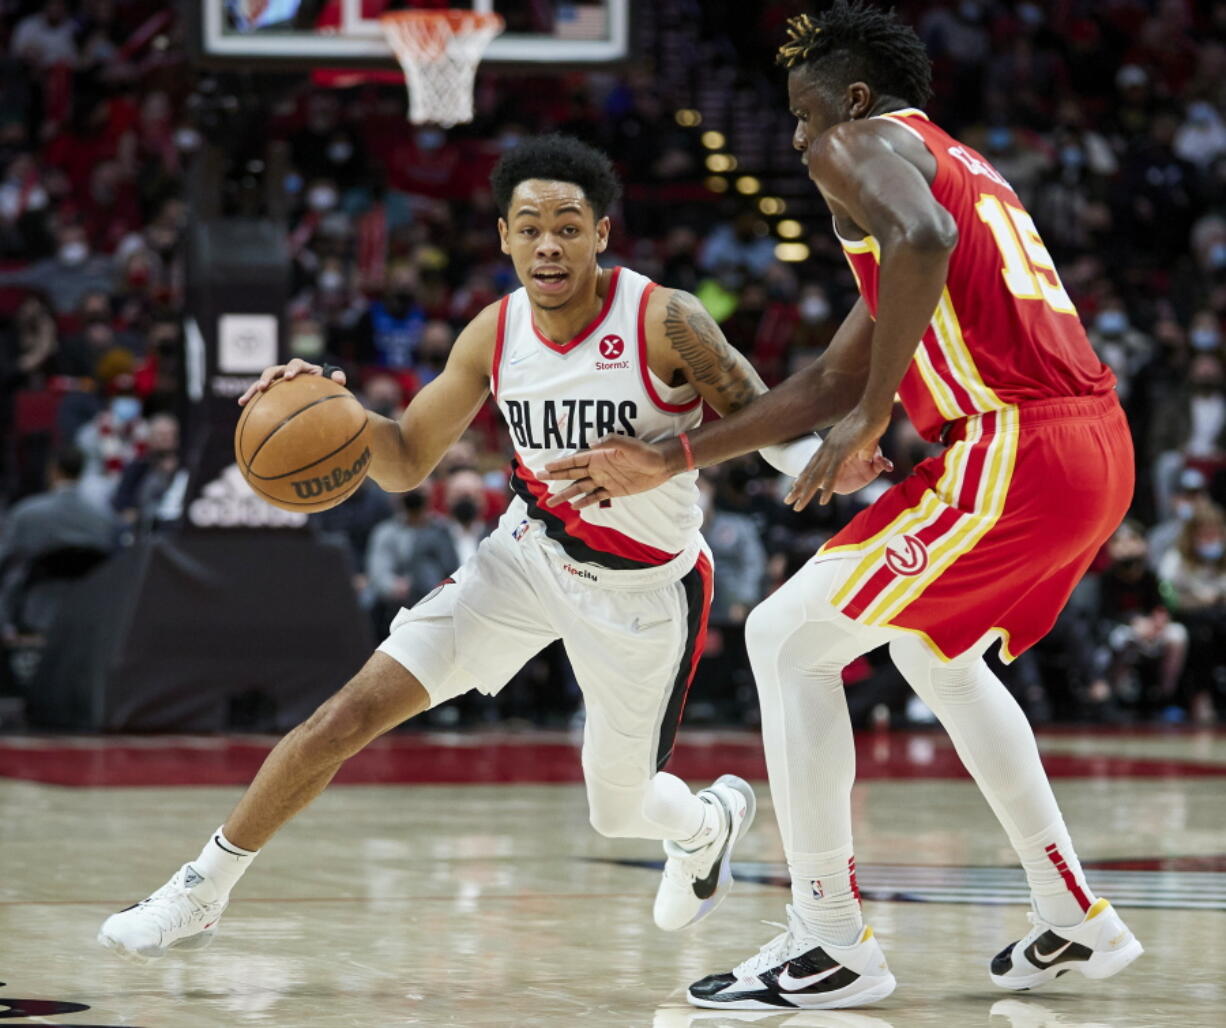
M 932 96 L 928 52 L 893 7 L 883 11 L 864 0 L 834 0 L 817 17 L 788 18 L 787 36 L 775 63 L 787 69 L 807 65 L 834 90 L 867 82 L 913 107 L 923 107 Z

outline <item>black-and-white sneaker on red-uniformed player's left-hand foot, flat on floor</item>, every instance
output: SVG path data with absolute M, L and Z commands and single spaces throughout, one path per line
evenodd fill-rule
M 835 1010 L 875 1003 L 894 991 L 894 975 L 870 927 L 851 946 L 831 946 L 791 907 L 787 926 L 780 927 L 783 934 L 744 963 L 690 985 L 689 1001 L 726 1010 Z

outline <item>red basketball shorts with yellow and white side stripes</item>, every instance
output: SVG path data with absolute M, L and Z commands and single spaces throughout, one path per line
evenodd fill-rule
M 830 601 L 953 660 L 986 633 L 1013 660 L 1045 635 L 1133 498 L 1114 394 L 958 422 L 949 448 L 821 547 L 848 559 Z

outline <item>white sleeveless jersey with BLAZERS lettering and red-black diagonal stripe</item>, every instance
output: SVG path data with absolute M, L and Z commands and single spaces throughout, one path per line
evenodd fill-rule
M 515 444 L 511 488 L 519 502 L 511 515 L 541 523 L 571 561 L 614 570 L 676 561 L 680 575 L 701 545 L 696 472 L 582 510 L 546 507 L 543 498 L 569 483 L 539 477 L 549 461 L 604 435 L 653 443 L 701 423 L 694 389 L 671 388 L 647 367 L 647 298 L 655 288 L 638 272 L 613 269 L 600 314 L 563 343 L 537 331 L 527 292 L 516 290 L 499 309 L 490 380 Z

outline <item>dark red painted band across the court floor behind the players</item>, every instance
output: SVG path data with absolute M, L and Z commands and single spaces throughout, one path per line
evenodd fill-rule
M 251 736 L 0 737 L 0 777 L 53 785 L 243 785 L 275 740 Z M 966 778 L 949 740 L 881 732 L 856 740 L 857 777 Z M 1052 778 L 1226 775 L 1226 764 L 1117 754 L 1046 753 Z M 693 781 L 733 773 L 765 779 L 761 741 L 750 732 L 683 732 L 668 770 Z M 581 781 L 577 736 L 449 732 L 394 735 L 371 743 L 337 775 L 351 785 Z

